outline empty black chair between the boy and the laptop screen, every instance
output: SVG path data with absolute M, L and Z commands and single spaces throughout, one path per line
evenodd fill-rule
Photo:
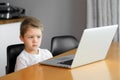
M 57 56 L 63 52 L 78 47 L 78 41 L 74 36 L 55 36 L 51 39 L 51 53 Z

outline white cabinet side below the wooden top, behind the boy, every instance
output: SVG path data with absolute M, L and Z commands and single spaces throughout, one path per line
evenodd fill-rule
M 19 40 L 19 26 L 20 22 L 0 25 L 0 76 L 5 74 L 7 46 L 21 42 Z

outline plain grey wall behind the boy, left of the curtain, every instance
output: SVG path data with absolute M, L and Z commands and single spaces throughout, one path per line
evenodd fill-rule
M 44 25 L 42 48 L 50 49 L 51 38 L 73 35 L 78 40 L 86 26 L 86 0 L 1 0 L 26 9 Z M 0 63 L 1 65 L 1 63 Z

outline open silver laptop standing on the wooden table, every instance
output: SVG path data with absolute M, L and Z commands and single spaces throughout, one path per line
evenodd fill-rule
M 75 68 L 105 59 L 118 25 L 85 29 L 75 54 L 52 58 L 40 64 Z

